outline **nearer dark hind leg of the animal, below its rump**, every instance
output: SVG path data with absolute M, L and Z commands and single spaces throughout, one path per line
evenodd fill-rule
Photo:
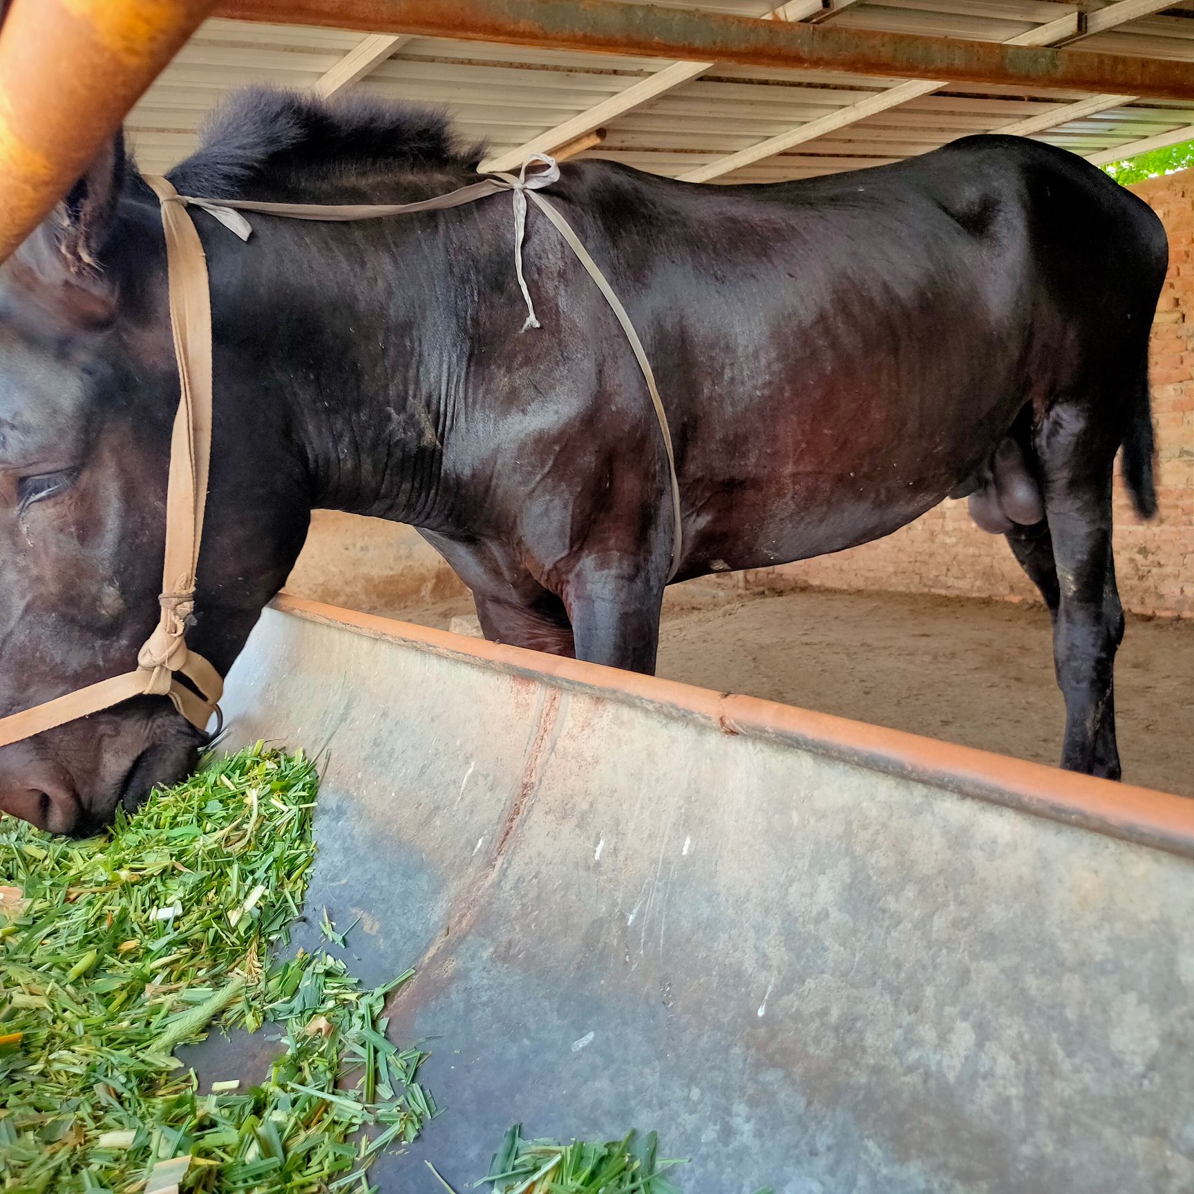
M 1058 586 L 1053 660 L 1065 697 L 1061 767 L 1118 780 L 1113 673 L 1124 613 L 1112 560 L 1116 444 L 1089 408 L 1058 405 L 1046 416 L 1034 447 L 1045 479 Z M 1044 574 L 1048 583 L 1047 568 Z

